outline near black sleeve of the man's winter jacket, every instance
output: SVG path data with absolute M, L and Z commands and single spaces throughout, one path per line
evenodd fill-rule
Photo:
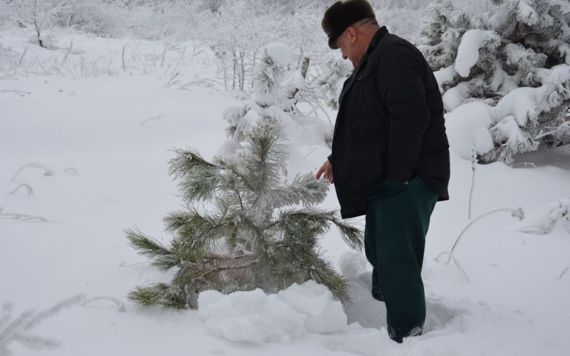
M 407 182 L 420 156 L 430 122 L 420 53 L 410 46 L 385 48 L 376 72 L 378 95 L 388 109 L 386 178 Z

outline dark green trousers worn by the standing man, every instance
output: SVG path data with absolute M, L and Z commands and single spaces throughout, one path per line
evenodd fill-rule
M 437 194 L 416 177 L 408 184 L 391 180 L 370 199 L 364 242 L 366 258 L 380 283 L 388 335 L 396 342 L 420 335 L 425 322 L 422 263 L 425 234 Z

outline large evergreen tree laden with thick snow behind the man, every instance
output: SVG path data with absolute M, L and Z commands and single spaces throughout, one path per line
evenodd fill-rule
M 487 131 L 469 128 L 478 135 L 477 153 L 509 163 L 541 144 L 570 143 L 563 114 L 570 100 L 570 5 L 493 2 L 491 14 L 477 17 L 454 9 L 450 1 L 437 1 L 423 31 L 427 44 L 420 49 L 437 70 L 445 110 L 485 105 L 489 118 L 481 122 Z M 466 159 L 469 152 L 470 147 L 462 150 Z

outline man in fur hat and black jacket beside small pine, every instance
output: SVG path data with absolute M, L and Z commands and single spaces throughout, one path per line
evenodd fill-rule
M 390 338 L 402 342 L 423 331 L 425 235 L 435 202 L 449 199 L 441 94 L 420 51 L 380 28 L 368 1 L 337 1 L 321 24 L 355 69 L 316 178 L 335 184 L 344 219 L 366 214 L 372 294 L 385 301 Z

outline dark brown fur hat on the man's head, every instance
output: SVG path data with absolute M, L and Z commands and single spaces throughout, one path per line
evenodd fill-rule
M 362 19 L 375 19 L 375 17 L 371 4 L 366 0 L 336 1 L 326 9 L 321 21 L 323 31 L 328 36 L 328 46 L 332 49 L 338 48 L 336 38 L 341 36 L 346 28 Z

